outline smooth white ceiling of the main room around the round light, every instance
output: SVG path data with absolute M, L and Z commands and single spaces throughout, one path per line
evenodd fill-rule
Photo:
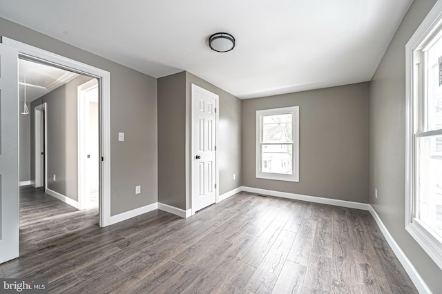
M 412 0 L 0 0 L 10 19 L 153 77 L 240 98 L 369 81 Z M 207 46 L 215 32 L 231 52 Z

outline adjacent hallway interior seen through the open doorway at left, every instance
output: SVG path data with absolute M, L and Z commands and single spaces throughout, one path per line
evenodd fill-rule
M 19 59 L 20 242 L 98 224 L 98 97 L 95 78 Z

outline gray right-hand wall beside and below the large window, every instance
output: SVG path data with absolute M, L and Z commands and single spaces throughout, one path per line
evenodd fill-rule
M 423 280 L 440 293 L 441 269 L 405 231 L 405 44 L 435 2 L 412 3 L 372 79 L 369 202 Z

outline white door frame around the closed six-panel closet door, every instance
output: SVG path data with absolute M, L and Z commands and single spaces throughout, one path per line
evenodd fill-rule
M 194 132 L 193 132 L 193 127 L 195 126 L 195 112 L 193 111 L 193 107 L 195 106 L 195 91 L 199 91 L 199 92 L 204 92 L 204 94 L 209 95 L 211 97 L 213 97 L 216 101 L 215 104 L 215 203 L 220 202 L 219 200 L 219 196 L 220 196 L 220 169 L 219 169 L 219 160 L 218 160 L 218 154 L 219 154 L 219 148 L 218 148 L 218 135 L 219 135 L 219 130 L 218 130 L 218 126 L 219 121 L 220 121 L 220 97 L 218 95 L 216 95 L 213 92 L 210 92 L 209 90 L 206 90 L 204 88 L 201 88 L 200 86 L 197 86 L 195 84 L 191 84 L 191 129 L 190 129 L 190 133 L 191 133 L 191 140 L 190 140 L 190 149 L 191 149 L 191 173 L 190 173 L 190 191 L 191 191 L 191 212 L 192 215 L 195 214 L 195 204 L 194 204 L 194 195 L 195 195 L 195 187 L 193 186 L 193 173 L 195 171 L 195 150 L 193 150 L 193 139 L 194 139 Z

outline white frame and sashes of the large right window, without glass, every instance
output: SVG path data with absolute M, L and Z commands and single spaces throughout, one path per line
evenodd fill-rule
M 418 137 L 442 135 L 425 130 L 425 49 L 442 36 L 442 1 L 436 2 L 405 46 L 405 230 L 442 269 L 442 237 L 416 218 L 416 150 Z

